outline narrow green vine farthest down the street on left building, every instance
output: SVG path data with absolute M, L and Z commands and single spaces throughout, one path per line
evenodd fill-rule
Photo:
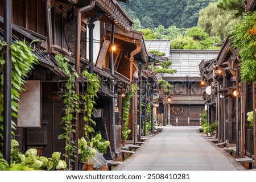
M 126 94 L 125 100 L 123 101 L 123 131 L 122 131 L 122 139 L 127 139 L 131 130 L 128 128 L 129 124 L 129 114 L 131 107 L 131 98 L 134 96 L 136 90 L 136 86 L 133 84 L 131 86 L 131 91 Z

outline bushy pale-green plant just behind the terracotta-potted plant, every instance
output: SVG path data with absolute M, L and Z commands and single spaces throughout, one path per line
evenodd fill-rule
M 95 148 L 101 154 L 106 154 L 110 142 L 102 138 L 100 132 L 97 133 L 90 141 L 93 143 L 93 148 Z

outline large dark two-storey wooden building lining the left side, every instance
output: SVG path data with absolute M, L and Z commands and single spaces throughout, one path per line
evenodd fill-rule
M 3 40 L 3 0 L 0 0 L 0 5 L 0 38 Z M 33 40 L 42 40 L 33 44 L 34 54 L 40 64 L 35 66 L 28 78 L 37 81 L 32 87 L 39 89 L 40 95 L 34 102 L 39 107 L 30 107 L 34 109 L 26 111 L 27 117 L 30 117 L 29 113 L 34 113 L 31 116 L 36 115 L 39 125 L 31 127 L 25 124 L 17 127 L 15 138 L 20 143 L 20 150 L 24 152 L 35 147 L 40 154 L 48 157 L 54 151 L 62 154 L 65 152 L 65 142 L 58 139 L 58 136 L 63 133 L 63 125 L 60 124 L 64 114 L 61 84 L 67 80 L 67 75 L 57 68 L 54 57 L 61 53 L 70 60 L 77 73 L 86 69 L 101 77 L 102 86 L 95 106 L 101 112 L 97 118 L 94 117 L 97 123 L 95 129 L 110 140 L 105 158 L 119 160 L 123 100 L 121 93 L 128 92 L 131 84 L 137 84 L 139 65 L 142 64 L 143 69 L 147 69 L 147 51 L 142 33 L 131 30 L 133 22 L 115 0 L 14 0 L 12 16 L 13 42 L 23 40 L 30 44 Z M 110 51 L 112 46 L 117 47 L 113 54 Z M 88 80 L 80 77 L 79 82 L 76 92 L 82 94 Z M 30 97 L 29 94 L 27 97 Z M 134 111 L 130 123 L 133 135 L 130 137 L 136 140 L 137 97 L 133 100 Z M 113 108 L 119 111 L 115 112 Z M 76 114 L 76 142 L 84 132 L 83 115 L 84 113 Z

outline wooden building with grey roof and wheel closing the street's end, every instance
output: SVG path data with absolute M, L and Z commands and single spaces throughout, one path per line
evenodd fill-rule
M 168 108 L 167 123 L 173 126 L 199 126 L 205 101 L 198 64 L 201 60 L 217 57 L 218 51 L 212 50 L 170 50 L 169 60 L 173 61 L 170 69 L 174 74 L 163 73 L 162 78 L 173 85 L 172 101 Z M 163 112 L 163 109 L 160 109 Z

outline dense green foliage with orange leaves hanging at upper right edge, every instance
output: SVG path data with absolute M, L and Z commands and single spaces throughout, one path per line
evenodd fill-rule
M 238 49 L 242 63 L 240 67 L 242 80 L 255 82 L 256 78 L 256 14 L 247 16 L 231 32 L 232 47 Z

